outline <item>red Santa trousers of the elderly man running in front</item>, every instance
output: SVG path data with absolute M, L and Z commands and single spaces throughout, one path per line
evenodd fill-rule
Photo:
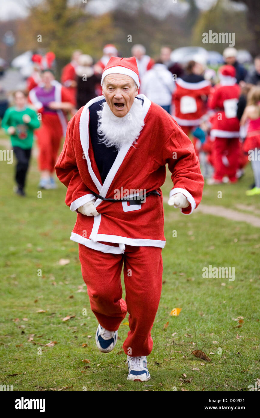
M 147 356 L 153 348 L 151 329 L 162 292 L 162 248 L 125 247 L 124 254 L 110 254 L 79 244 L 81 271 L 99 324 L 116 331 L 129 312 L 124 352 Z M 120 277 L 123 263 L 125 301 Z

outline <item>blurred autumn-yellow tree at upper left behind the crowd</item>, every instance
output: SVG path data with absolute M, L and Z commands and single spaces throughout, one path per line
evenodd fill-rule
M 84 8 L 71 6 L 69 0 L 43 0 L 41 3 L 27 0 L 26 4 L 30 15 L 19 24 L 19 47 L 53 51 L 58 72 L 78 48 L 99 59 L 103 45 L 112 42 L 120 31 L 114 28 L 110 14 L 94 17 L 86 13 L 86 3 L 81 3 Z

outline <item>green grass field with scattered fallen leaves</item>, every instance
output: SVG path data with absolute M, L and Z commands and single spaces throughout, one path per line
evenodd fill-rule
M 96 348 L 98 322 L 81 276 L 78 245 L 69 239 L 76 216 L 64 203 L 66 188 L 59 184 L 38 198 L 33 160 L 28 196 L 19 198 L 13 194 L 14 164 L 0 161 L 0 170 L 1 384 L 16 391 L 237 391 L 255 385 L 260 377 L 260 228 L 196 211 L 184 216 L 164 205 L 167 245 L 154 348 L 147 358 L 151 380 L 129 382 L 121 348 L 128 316 L 114 351 L 102 354 Z M 260 216 L 259 196 L 245 196 L 251 183 L 247 166 L 237 185 L 205 186 L 202 203 L 232 209 L 243 204 L 248 206 L 244 213 Z M 164 195 L 171 187 L 168 176 Z M 69 263 L 61 265 L 61 259 Z M 209 265 L 235 268 L 235 280 L 203 278 Z M 171 316 L 173 308 L 182 311 Z M 63 321 L 66 316 L 73 318 Z M 46 346 L 50 342 L 56 343 Z M 211 362 L 195 357 L 196 349 Z

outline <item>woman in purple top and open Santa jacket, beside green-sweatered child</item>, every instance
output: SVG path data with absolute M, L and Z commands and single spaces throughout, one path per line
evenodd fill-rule
M 66 113 L 74 103 L 65 87 L 54 80 L 50 70 L 43 71 L 42 82 L 29 93 L 30 102 L 41 115 L 41 127 L 35 131 L 38 138 L 39 187 L 55 189 L 54 166 L 58 157 L 61 138 L 66 135 Z

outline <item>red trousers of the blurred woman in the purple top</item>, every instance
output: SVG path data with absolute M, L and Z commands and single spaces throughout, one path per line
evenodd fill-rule
M 63 130 L 58 115 L 43 114 L 42 125 L 35 131 L 38 139 L 38 166 L 39 170 L 48 170 L 53 173 L 58 159 L 58 150 L 63 137 Z

